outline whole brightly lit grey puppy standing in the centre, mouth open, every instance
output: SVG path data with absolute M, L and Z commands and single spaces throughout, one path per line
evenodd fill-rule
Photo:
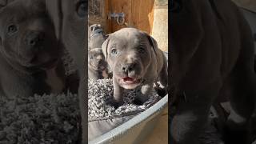
M 137 100 L 145 102 L 154 82 L 160 80 L 162 86 L 167 86 L 166 57 L 145 32 L 134 28 L 118 30 L 109 35 L 102 50 L 113 71 L 114 106 L 122 105 L 124 89 L 141 86 L 142 96 Z

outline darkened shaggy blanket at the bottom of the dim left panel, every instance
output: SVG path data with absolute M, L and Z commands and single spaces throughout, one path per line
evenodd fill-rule
M 0 143 L 75 143 L 80 113 L 78 96 L 43 95 L 0 99 Z

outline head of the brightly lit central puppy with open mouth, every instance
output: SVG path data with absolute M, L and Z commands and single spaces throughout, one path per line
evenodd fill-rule
M 134 28 L 118 30 L 102 44 L 114 78 L 125 89 L 134 89 L 145 80 L 155 49 L 154 38 Z

